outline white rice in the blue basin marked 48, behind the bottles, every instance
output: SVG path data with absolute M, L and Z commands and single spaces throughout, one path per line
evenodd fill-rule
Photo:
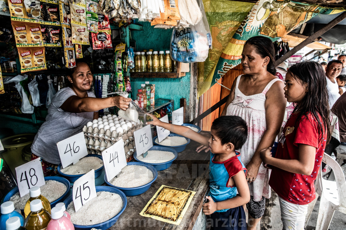
M 41 195 L 47 198 L 49 203 L 60 198 L 67 190 L 65 184 L 58 182 L 56 180 L 47 180 L 46 184 L 41 186 Z M 15 209 L 24 209 L 26 202 L 29 200 L 30 194 L 26 194 L 20 197 L 19 192 L 14 194 L 10 201 L 13 202 Z

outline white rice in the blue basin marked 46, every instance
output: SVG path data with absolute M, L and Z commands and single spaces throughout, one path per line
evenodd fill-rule
M 67 175 L 85 174 L 90 170 L 97 170 L 103 166 L 103 161 L 98 157 L 83 157 L 75 164 L 70 164 L 66 168 L 60 168 L 62 173 Z

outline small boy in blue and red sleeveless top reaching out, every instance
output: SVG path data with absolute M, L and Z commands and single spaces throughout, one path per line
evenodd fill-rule
M 238 116 L 222 116 L 211 125 L 211 137 L 203 136 L 186 126 L 162 122 L 148 114 L 153 124 L 190 138 L 211 150 L 209 164 L 210 196 L 203 204 L 203 212 L 210 215 L 211 229 L 246 230 L 243 205 L 249 202 L 250 192 L 246 181 L 246 168 L 240 153 L 247 139 L 246 122 Z M 237 194 L 238 191 L 238 194 Z

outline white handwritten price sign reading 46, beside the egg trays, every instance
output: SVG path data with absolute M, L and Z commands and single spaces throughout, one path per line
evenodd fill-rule
M 84 139 L 84 133 L 80 132 L 72 137 L 56 143 L 59 151 L 62 167 L 65 168 L 72 163 L 77 163 L 79 159 L 88 155 Z

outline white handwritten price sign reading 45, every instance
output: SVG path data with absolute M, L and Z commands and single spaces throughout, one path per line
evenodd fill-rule
M 72 199 L 74 210 L 78 211 L 84 204 L 96 197 L 95 170 L 85 173 L 73 184 Z

